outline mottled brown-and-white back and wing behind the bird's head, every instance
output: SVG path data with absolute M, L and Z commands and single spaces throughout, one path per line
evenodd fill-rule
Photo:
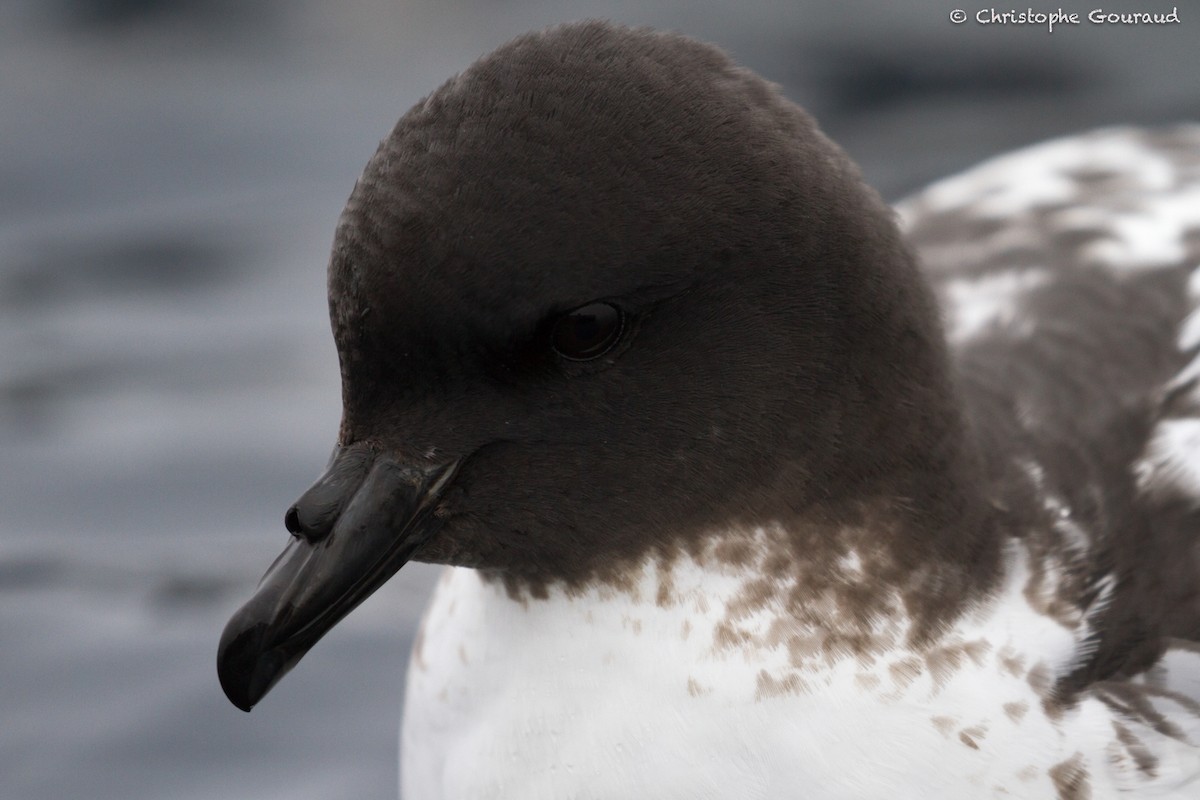
M 1200 639 L 1200 126 L 1050 142 L 898 211 L 994 501 L 1037 510 L 1046 604 L 1096 618 L 1068 688 Z

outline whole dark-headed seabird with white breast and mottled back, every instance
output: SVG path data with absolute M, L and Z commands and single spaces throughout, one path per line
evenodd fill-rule
M 409 800 L 1200 796 L 1200 127 L 899 213 L 720 50 L 588 22 L 409 110 L 248 710 L 406 561 Z

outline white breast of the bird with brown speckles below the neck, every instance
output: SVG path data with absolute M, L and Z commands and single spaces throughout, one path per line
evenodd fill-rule
M 624 590 L 528 601 L 449 570 L 413 652 L 402 796 L 1115 798 L 1111 709 L 1048 716 L 1076 642 L 1009 561 L 937 646 L 802 663 L 769 608 L 728 602 L 752 564 L 647 564 Z

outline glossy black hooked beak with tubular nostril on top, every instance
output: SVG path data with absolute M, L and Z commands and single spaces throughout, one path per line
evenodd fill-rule
M 293 540 L 221 636 L 217 675 L 250 711 L 331 627 L 394 576 L 438 528 L 432 513 L 460 462 L 414 467 L 373 446 L 338 446 L 288 510 Z

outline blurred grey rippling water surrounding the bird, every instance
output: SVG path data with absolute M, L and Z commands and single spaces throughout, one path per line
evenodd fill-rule
M 334 443 L 338 211 L 474 58 L 584 17 L 682 30 L 899 199 L 1061 133 L 1200 118 L 1180 5 L 1049 34 L 954 0 L 0 2 L 0 798 L 395 796 L 436 571 L 407 567 L 252 715 L 214 661 Z

